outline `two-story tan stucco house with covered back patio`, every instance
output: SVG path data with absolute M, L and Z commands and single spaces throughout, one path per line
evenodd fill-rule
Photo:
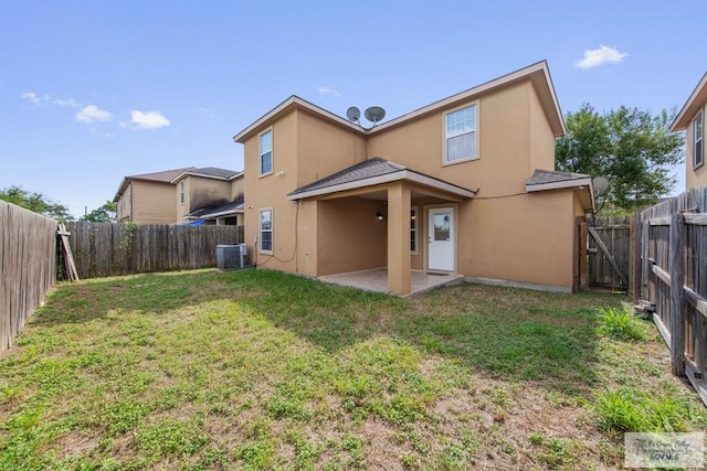
M 564 122 L 546 62 L 372 129 L 293 96 L 244 144 L 252 263 L 305 276 L 411 269 L 570 291 L 587 175 L 555 171 Z

